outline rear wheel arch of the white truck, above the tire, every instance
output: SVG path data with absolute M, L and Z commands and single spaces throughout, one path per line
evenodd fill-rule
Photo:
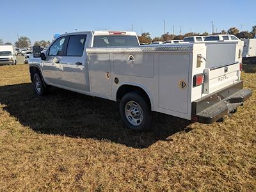
M 121 100 L 122 97 L 129 92 L 138 92 L 152 109 L 152 97 L 146 88 L 143 88 L 140 84 L 124 83 L 121 84 L 116 91 L 116 100 Z

